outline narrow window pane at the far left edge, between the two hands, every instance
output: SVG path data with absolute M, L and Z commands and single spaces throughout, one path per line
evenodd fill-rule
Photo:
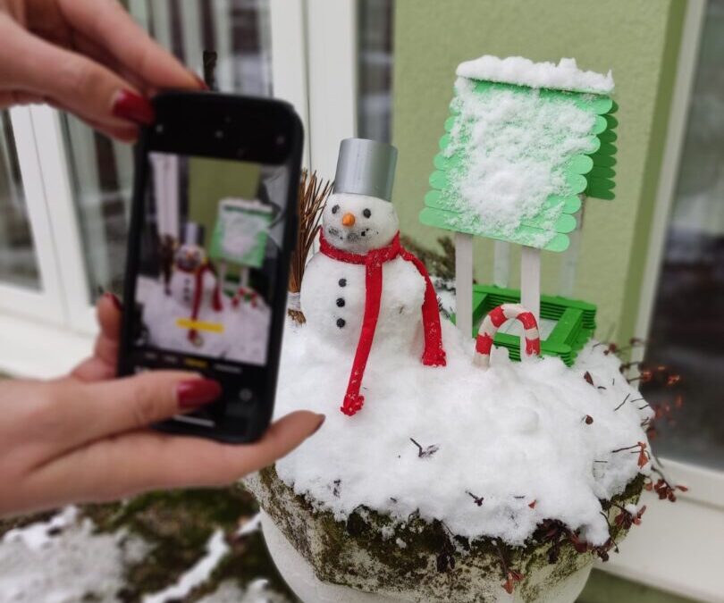
M 0 283 L 40 289 L 10 114 L 0 112 Z

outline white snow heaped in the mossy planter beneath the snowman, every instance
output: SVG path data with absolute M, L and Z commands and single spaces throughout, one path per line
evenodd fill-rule
M 327 420 L 277 462 L 282 481 L 338 520 L 360 506 L 400 523 L 417 512 L 461 536 L 519 545 L 537 523 L 558 519 L 605 542 L 600 500 L 647 468 L 614 450 L 646 442 L 642 422 L 652 416 L 619 360 L 594 344 L 571 368 L 558 358 L 512 363 L 494 350 L 484 372 L 472 364 L 473 340 L 442 327 L 446 367 L 375 342 L 365 406 L 350 418 L 339 407 L 353 352 L 289 323 L 275 413 L 309 408 Z

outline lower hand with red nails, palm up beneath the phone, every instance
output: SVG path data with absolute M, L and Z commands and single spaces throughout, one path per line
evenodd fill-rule
M 287 454 L 324 422 L 299 411 L 240 446 L 149 431 L 150 423 L 211 402 L 218 385 L 180 372 L 114 379 L 117 299 L 105 295 L 97 311 L 95 353 L 71 375 L 0 381 L 0 515 L 228 484 Z

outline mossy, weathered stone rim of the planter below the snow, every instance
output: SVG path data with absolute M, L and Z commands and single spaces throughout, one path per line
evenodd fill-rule
M 611 502 L 621 506 L 636 502 L 643 484 L 643 476 L 637 477 Z M 546 574 L 543 582 L 524 577 L 518 584 L 521 600 L 535 600 L 551 584 L 591 564 L 594 558 L 592 552 L 579 553 L 570 541 L 563 540 L 551 563 L 550 541 L 532 538 L 523 547 L 490 538 L 470 541 L 455 536 L 439 521 L 429 523 L 410 515 L 400 525 L 389 515 L 365 507 L 346 521 L 337 521 L 329 511 L 295 494 L 278 478 L 274 467 L 252 476 L 247 485 L 317 578 L 358 590 L 404 595 L 410 600 L 442 599 L 444 593 L 450 603 L 479 601 L 481 595 L 492 599 L 491 589 L 500 590 L 506 580 L 506 565 L 524 576 Z M 612 508 L 607 502 L 603 507 Z M 393 524 L 394 535 L 385 538 L 383 529 L 392 533 Z M 614 525 L 611 536 L 619 541 L 625 530 Z M 496 578 L 491 580 L 491 576 Z

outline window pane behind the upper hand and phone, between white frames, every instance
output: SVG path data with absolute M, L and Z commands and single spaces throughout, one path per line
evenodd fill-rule
M 189 68 L 200 73 L 203 50 L 215 50 L 224 92 L 272 93 L 268 0 L 131 0 L 134 18 Z M 63 116 L 90 289 L 122 289 L 133 179 L 131 149 Z M 92 300 L 88 300 L 91 302 Z

